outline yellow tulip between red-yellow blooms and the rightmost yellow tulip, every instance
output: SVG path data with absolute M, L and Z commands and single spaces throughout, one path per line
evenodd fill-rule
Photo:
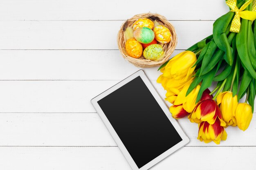
M 225 91 L 217 96 L 217 104 L 220 104 L 222 119 L 227 125 L 236 126 L 235 111 L 238 105 L 237 95 L 233 97 L 231 91 Z

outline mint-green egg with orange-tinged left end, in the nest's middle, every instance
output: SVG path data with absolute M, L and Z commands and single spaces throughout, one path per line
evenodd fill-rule
M 148 44 L 152 42 L 155 38 L 154 32 L 148 27 L 139 27 L 135 29 L 135 31 L 133 32 L 133 36 L 138 42 L 143 44 Z

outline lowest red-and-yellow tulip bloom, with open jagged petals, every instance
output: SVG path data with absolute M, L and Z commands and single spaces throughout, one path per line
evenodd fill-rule
M 204 141 L 204 143 L 214 141 L 216 144 L 220 144 L 220 140 L 225 141 L 227 139 L 227 132 L 221 126 L 219 118 L 216 119 L 214 124 L 202 121 L 199 124 L 198 139 Z

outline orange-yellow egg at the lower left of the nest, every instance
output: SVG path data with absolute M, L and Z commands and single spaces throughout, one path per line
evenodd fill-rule
M 125 49 L 131 57 L 139 58 L 142 55 L 142 45 L 135 38 L 126 41 Z

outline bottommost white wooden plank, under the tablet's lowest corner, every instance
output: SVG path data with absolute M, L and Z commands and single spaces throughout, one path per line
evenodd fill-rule
M 117 147 L 1 147 L 0 157 L 4 170 L 131 170 Z M 255 157 L 256 147 L 184 147 L 151 169 L 254 170 Z

